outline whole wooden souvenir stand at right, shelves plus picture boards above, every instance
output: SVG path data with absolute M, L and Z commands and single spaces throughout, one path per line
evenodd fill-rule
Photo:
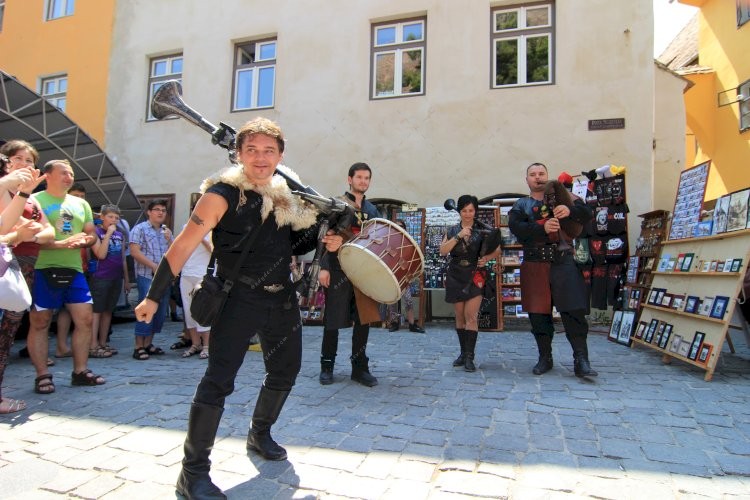
M 707 381 L 724 341 L 733 350 L 727 330 L 750 258 L 750 189 L 720 198 L 706 218 L 710 166 L 708 161 L 680 174 L 669 232 L 659 234 L 668 239 L 658 258 L 648 257 L 645 264 L 650 287 L 640 297 L 641 317 L 632 335 L 633 345 L 662 352 L 665 363 L 679 359 L 706 370 Z

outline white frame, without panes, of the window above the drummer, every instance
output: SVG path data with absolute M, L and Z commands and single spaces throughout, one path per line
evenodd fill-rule
M 404 28 L 412 25 L 422 27 L 422 38 L 415 40 L 404 40 Z M 395 41 L 392 43 L 378 44 L 378 31 L 382 29 L 395 29 Z M 425 59 L 427 54 L 427 18 L 405 19 L 396 22 L 388 22 L 372 25 L 372 63 L 370 78 L 371 99 L 392 99 L 394 97 L 412 97 L 425 94 Z M 420 83 L 418 92 L 403 92 L 403 58 L 408 52 L 418 51 L 421 54 Z M 393 54 L 393 93 L 378 94 L 378 57 Z

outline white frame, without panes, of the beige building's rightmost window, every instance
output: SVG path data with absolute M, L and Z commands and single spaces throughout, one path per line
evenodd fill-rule
M 527 26 L 527 13 L 529 10 L 540 8 L 547 9 L 547 24 Z M 497 29 L 497 17 L 499 14 L 515 12 L 517 15 L 518 26 L 508 29 Z M 536 3 L 519 5 L 515 7 L 504 7 L 493 9 L 491 11 L 492 36 L 491 36 L 491 54 L 492 70 L 490 74 L 490 85 L 493 89 L 509 87 L 528 87 L 537 85 L 550 85 L 555 82 L 554 73 L 554 3 Z M 527 42 L 533 38 L 547 38 L 547 79 L 540 82 L 527 81 Z M 497 42 L 516 40 L 517 44 L 517 61 L 516 61 L 516 83 L 498 84 L 497 83 Z

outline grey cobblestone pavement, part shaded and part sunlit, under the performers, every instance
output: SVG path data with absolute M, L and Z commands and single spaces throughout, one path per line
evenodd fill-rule
M 167 349 L 181 325 L 156 344 Z M 132 353 L 130 323 L 115 325 L 120 354 L 93 359 L 102 387 L 71 387 L 71 360 L 51 369 L 57 392 L 32 391 L 14 346 L 3 394 L 26 411 L 0 416 L 0 498 L 174 498 L 188 406 L 205 361 L 179 352 Z M 350 350 L 350 330 L 339 352 Z M 476 373 L 451 367 L 451 325 L 427 334 L 373 329 L 368 354 L 380 385 L 318 384 L 320 327 L 304 328 L 304 359 L 274 437 L 289 460 L 245 450 L 263 377 L 248 352 L 212 453 L 230 499 L 271 498 L 748 498 L 750 350 L 735 334 L 711 382 L 704 372 L 602 333 L 589 339 L 599 377 L 578 379 L 555 337 L 555 368 L 534 376 L 526 332 L 481 333 Z M 741 345 L 740 345 L 741 344 Z M 51 350 L 51 352 L 54 352 Z

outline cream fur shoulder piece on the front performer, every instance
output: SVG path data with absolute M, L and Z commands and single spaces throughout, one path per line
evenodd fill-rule
M 280 164 L 276 169 L 282 170 L 289 177 L 299 181 L 299 176 L 289 167 Z M 208 188 L 219 182 L 235 186 L 240 190 L 240 201 L 235 210 L 238 210 L 247 202 L 244 191 L 255 191 L 263 197 L 263 206 L 261 207 L 263 220 L 266 220 L 268 214 L 273 211 L 276 223 L 279 226 L 290 225 L 294 231 L 305 229 L 317 222 L 318 210 L 311 204 L 294 196 L 287 186 L 286 180 L 279 175 L 273 176 L 271 182 L 265 186 L 256 186 L 247 179 L 242 165 L 232 165 L 205 179 L 201 183 L 201 193 L 205 193 Z

